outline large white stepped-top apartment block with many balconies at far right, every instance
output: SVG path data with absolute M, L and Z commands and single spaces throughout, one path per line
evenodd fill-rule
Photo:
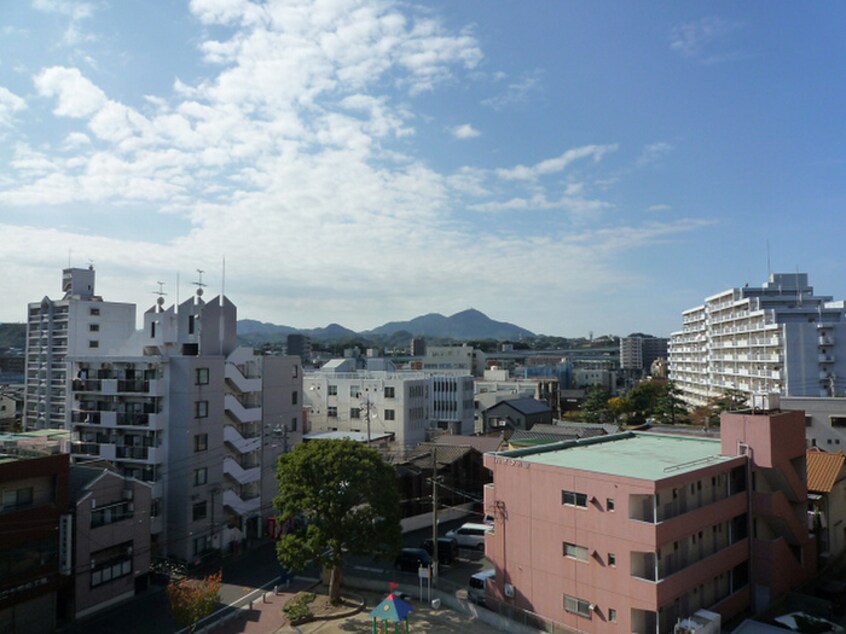
M 725 390 L 830 396 L 846 388 L 844 303 L 814 295 L 805 273 L 770 275 L 682 313 L 670 379 L 690 405 Z

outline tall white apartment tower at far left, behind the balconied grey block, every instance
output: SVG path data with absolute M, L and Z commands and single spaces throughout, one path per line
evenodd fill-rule
M 105 302 L 94 292 L 94 268 L 62 271 L 62 299 L 29 304 L 23 425 L 65 427 L 67 359 L 109 354 L 135 332 L 135 304 Z

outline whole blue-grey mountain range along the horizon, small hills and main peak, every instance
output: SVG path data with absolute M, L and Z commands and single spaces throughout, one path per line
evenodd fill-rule
M 391 336 L 398 332 L 407 332 L 415 337 L 444 337 L 449 339 L 496 339 L 498 341 L 516 341 L 535 334 L 514 324 L 496 321 L 481 311 L 473 308 L 444 317 L 439 313 L 429 313 L 408 321 L 388 322 L 373 330 L 356 332 L 339 324 L 329 324 L 325 328 L 301 329 L 291 326 L 241 319 L 238 321 L 238 336 L 242 338 L 261 337 L 277 338 L 289 334 L 303 334 L 314 340 L 348 339 L 374 335 Z

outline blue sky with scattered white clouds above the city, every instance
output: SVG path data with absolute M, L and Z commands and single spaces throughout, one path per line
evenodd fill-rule
M 467 308 L 681 330 L 770 272 L 846 299 L 846 4 L 0 2 L 0 322 Z M 161 283 L 161 284 L 160 284 Z

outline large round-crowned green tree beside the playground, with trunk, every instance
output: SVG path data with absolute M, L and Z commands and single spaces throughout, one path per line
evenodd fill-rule
M 279 458 L 279 562 L 299 571 L 316 562 L 329 573 L 329 600 L 341 598 L 344 554 L 396 554 L 401 545 L 396 472 L 375 449 L 352 440 L 317 440 Z

